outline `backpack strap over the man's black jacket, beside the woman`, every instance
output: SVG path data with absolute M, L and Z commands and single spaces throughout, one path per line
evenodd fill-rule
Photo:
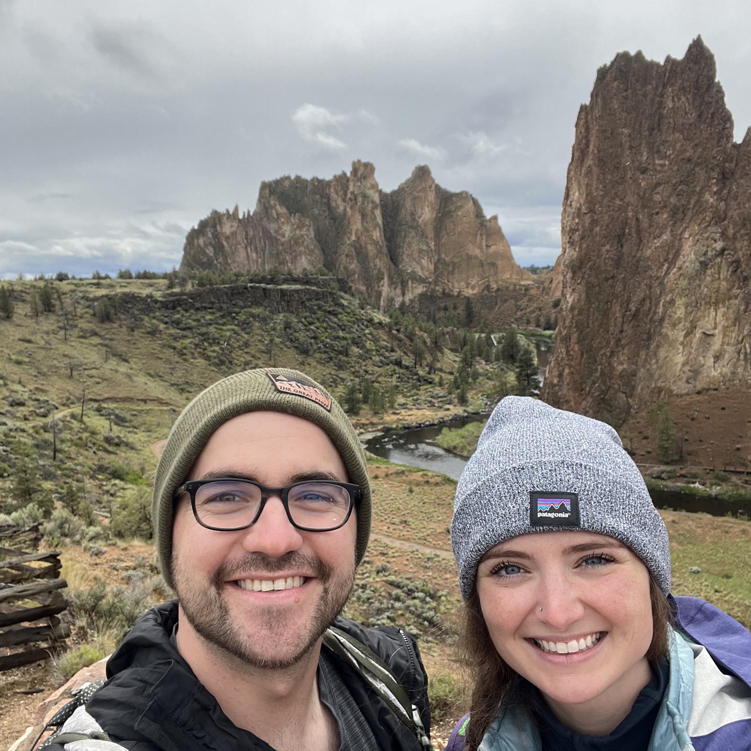
M 384 704 L 417 737 L 425 751 L 433 751 L 418 708 L 409 701 L 406 691 L 378 655 L 361 641 L 335 626 L 326 629 L 324 644 L 363 677 Z

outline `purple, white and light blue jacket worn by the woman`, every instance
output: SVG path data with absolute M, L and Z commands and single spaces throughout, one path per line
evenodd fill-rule
M 751 633 L 695 597 L 674 598 L 674 609 L 670 679 L 648 751 L 751 751 Z M 468 719 L 457 723 L 446 751 L 462 751 Z M 480 751 L 522 749 L 541 749 L 538 728 L 500 712 Z

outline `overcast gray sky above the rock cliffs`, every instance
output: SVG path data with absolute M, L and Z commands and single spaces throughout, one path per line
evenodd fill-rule
M 597 68 L 701 34 L 741 140 L 749 29 L 747 0 L 0 0 L 0 276 L 167 270 L 262 180 L 358 158 L 385 190 L 429 164 L 549 264 Z

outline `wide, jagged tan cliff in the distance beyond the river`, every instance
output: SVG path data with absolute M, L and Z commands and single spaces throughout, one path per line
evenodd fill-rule
M 323 266 L 382 309 L 424 291 L 478 294 L 529 278 L 493 216 L 415 167 L 385 193 L 375 168 L 264 182 L 252 214 L 213 212 L 185 239 L 181 268 L 300 272 Z

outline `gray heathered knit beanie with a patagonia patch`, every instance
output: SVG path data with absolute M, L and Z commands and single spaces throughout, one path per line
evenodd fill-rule
M 457 484 L 451 546 L 462 597 L 472 593 L 491 547 L 572 529 L 628 545 L 670 593 L 668 530 L 615 430 L 530 397 L 506 397 Z

